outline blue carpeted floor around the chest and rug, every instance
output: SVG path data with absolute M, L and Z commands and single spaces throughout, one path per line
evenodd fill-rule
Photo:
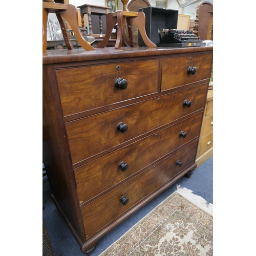
M 46 224 L 55 256 L 84 256 L 85 254 L 80 251 L 80 247 L 73 237 L 73 234 L 50 198 L 51 189 L 47 176 L 42 178 L 42 184 L 42 206 L 45 207 L 42 216 Z M 200 165 L 189 179 L 182 177 L 151 202 L 144 205 L 132 216 L 116 226 L 109 233 L 105 234 L 105 236 L 97 242 L 92 256 L 99 255 L 118 238 L 120 238 L 127 230 L 147 215 L 148 212 L 153 210 L 159 203 L 172 194 L 177 189 L 177 184 L 181 187 L 193 190 L 194 194 L 203 197 L 208 203 L 213 203 L 213 157 Z

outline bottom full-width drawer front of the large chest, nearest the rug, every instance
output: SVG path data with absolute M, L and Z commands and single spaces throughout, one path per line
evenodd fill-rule
M 170 179 L 182 172 L 190 164 L 194 163 L 197 150 L 197 142 L 190 143 L 174 155 L 162 160 L 106 193 L 94 202 L 81 209 L 86 237 L 95 235 L 101 228 L 116 220 L 125 211 L 142 201 L 156 189 L 167 183 Z M 180 160 L 183 165 L 179 167 L 176 162 Z M 129 199 L 126 205 L 122 205 L 120 199 L 125 196 Z

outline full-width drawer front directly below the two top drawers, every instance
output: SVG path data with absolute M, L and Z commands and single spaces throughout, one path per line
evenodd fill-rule
M 208 84 L 141 101 L 66 124 L 73 164 L 204 108 Z M 183 102 L 192 102 L 190 108 Z M 128 126 L 126 133 L 117 126 Z

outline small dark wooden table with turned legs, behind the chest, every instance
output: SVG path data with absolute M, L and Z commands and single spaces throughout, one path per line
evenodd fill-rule
M 80 15 L 81 15 L 81 18 L 82 18 L 82 20 L 81 20 L 82 28 L 84 28 L 83 16 L 84 16 L 84 14 L 88 15 L 88 22 L 89 22 L 89 28 L 90 28 L 90 33 L 88 35 L 94 36 L 94 37 L 104 37 L 104 34 L 102 34 L 101 16 L 106 15 L 107 13 L 109 13 L 109 10 L 111 10 L 111 7 L 86 4 L 86 5 L 77 6 L 77 8 L 80 9 Z M 100 34 L 94 34 L 93 33 L 91 15 L 99 15 L 99 31 L 100 31 Z

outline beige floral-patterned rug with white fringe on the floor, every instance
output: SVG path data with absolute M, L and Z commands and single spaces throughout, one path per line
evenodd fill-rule
M 212 204 L 177 187 L 100 256 L 211 256 Z

